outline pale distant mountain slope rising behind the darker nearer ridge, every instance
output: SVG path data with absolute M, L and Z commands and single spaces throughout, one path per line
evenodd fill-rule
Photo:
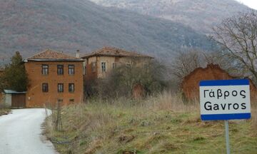
M 247 11 L 234 0 L 91 0 L 103 6 L 115 6 L 141 14 L 161 17 L 191 26 L 198 32 L 211 33 L 222 19 Z

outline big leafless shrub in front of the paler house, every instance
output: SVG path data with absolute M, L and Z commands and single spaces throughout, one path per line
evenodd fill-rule
M 147 95 L 163 91 L 166 87 L 165 67 L 157 61 L 141 66 L 132 63 L 114 68 L 106 78 L 97 81 L 97 91 L 103 98 L 131 97 L 136 84 L 143 86 Z

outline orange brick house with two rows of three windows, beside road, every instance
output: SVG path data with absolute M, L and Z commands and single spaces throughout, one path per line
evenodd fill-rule
M 24 62 L 29 77 L 26 107 L 42 107 L 57 101 L 62 105 L 83 101 L 83 59 L 48 49 Z

